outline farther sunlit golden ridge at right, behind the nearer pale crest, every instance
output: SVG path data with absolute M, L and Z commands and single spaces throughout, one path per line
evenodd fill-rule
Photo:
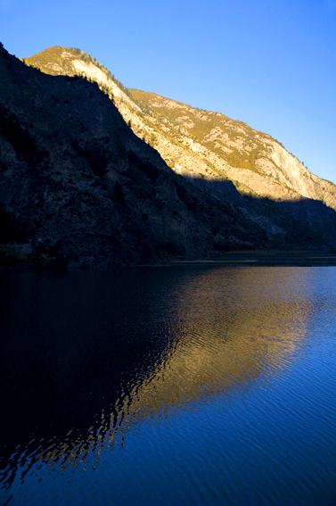
M 201 111 L 160 95 L 130 91 L 158 115 L 179 125 L 180 142 L 185 147 L 188 137 L 201 146 L 203 161 L 208 162 L 208 167 L 201 168 L 205 177 L 229 178 L 243 194 L 294 201 L 304 196 L 336 209 L 335 185 L 311 174 L 274 138 L 219 112 Z M 197 154 L 193 145 L 189 150 Z M 178 171 L 187 170 L 188 163 L 180 163 Z

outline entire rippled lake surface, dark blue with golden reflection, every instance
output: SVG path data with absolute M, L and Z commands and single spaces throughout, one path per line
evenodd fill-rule
M 336 504 L 335 267 L 0 289 L 0 504 Z

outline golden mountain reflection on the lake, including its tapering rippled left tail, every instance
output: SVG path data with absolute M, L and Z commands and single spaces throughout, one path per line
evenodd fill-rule
M 169 310 L 174 338 L 160 363 L 110 413 L 102 411 L 85 438 L 70 432 L 62 442 L 40 442 L 37 448 L 32 442 L 17 459 L 24 473 L 38 472 L 42 464 L 61 472 L 95 467 L 143 420 L 197 409 L 219 394 L 229 402 L 232 394 L 248 394 L 260 377 L 272 378 L 291 363 L 312 311 L 298 291 L 301 272 L 307 295 L 307 271 L 284 272 L 209 270 L 179 286 Z

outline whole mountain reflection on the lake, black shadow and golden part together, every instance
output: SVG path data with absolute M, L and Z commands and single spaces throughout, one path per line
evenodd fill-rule
M 276 375 L 305 337 L 307 272 L 3 273 L 4 489 L 18 469 L 95 467 L 143 420 Z

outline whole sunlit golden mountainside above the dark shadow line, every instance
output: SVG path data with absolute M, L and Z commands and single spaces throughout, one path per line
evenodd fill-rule
M 27 63 L 53 74 L 94 79 L 114 100 L 135 134 L 159 151 L 169 167 L 193 178 L 234 182 L 243 195 L 321 201 L 336 210 L 336 187 L 317 178 L 274 138 L 219 112 L 207 112 L 153 93 L 123 87 L 99 62 L 61 46 Z

